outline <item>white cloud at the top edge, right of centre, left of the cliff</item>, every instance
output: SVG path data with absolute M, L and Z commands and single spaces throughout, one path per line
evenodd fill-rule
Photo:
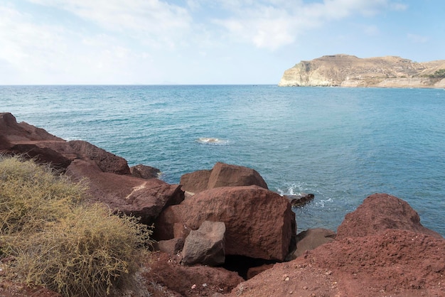
M 275 50 L 294 43 L 305 31 L 341 20 L 354 14 L 373 16 L 392 9 L 389 0 L 325 0 L 304 4 L 303 1 L 224 1 L 223 7 L 234 16 L 215 19 L 238 41 L 253 43 L 258 48 Z M 394 9 L 402 9 L 401 5 Z

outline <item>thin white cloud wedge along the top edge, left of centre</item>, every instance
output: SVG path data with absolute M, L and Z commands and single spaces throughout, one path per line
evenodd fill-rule
M 192 18 L 180 6 L 159 0 L 28 0 L 75 14 L 109 31 L 174 47 L 191 29 Z

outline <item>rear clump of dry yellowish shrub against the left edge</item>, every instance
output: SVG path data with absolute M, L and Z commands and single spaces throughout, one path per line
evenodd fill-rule
M 49 166 L 0 157 L 0 231 L 38 232 L 67 215 L 85 193 L 85 185 L 70 183 Z

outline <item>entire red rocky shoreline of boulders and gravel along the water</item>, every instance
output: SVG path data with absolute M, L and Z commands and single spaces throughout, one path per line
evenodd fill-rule
M 124 158 L 9 113 L 0 114 L 0 151 L 87 178 L 92 201 L 154 224 L 155 250 L 127 296 L 445 295 L 445 239 L 392 195 L 370 195 L 336 233 L 296 234 L 296 198 L 268 190 L 251 168 L 216 163 L 170 185 L 156 168 L 129 168 Z M 0 294 L 30 294 L 16 287 L 2 283 Z

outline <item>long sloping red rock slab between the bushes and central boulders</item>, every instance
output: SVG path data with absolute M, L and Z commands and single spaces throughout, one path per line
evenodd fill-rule
M 144 180 L 105 173 L 94 161 L 75 160 L 66 174 L 75 180 L 87 178 L 93 201 L 103 202 L 114 211 L 141 217 L 144 223 L 153 222 L 166 206 L 184 199 L 180 185 L 169 185 L 157 178 Z

